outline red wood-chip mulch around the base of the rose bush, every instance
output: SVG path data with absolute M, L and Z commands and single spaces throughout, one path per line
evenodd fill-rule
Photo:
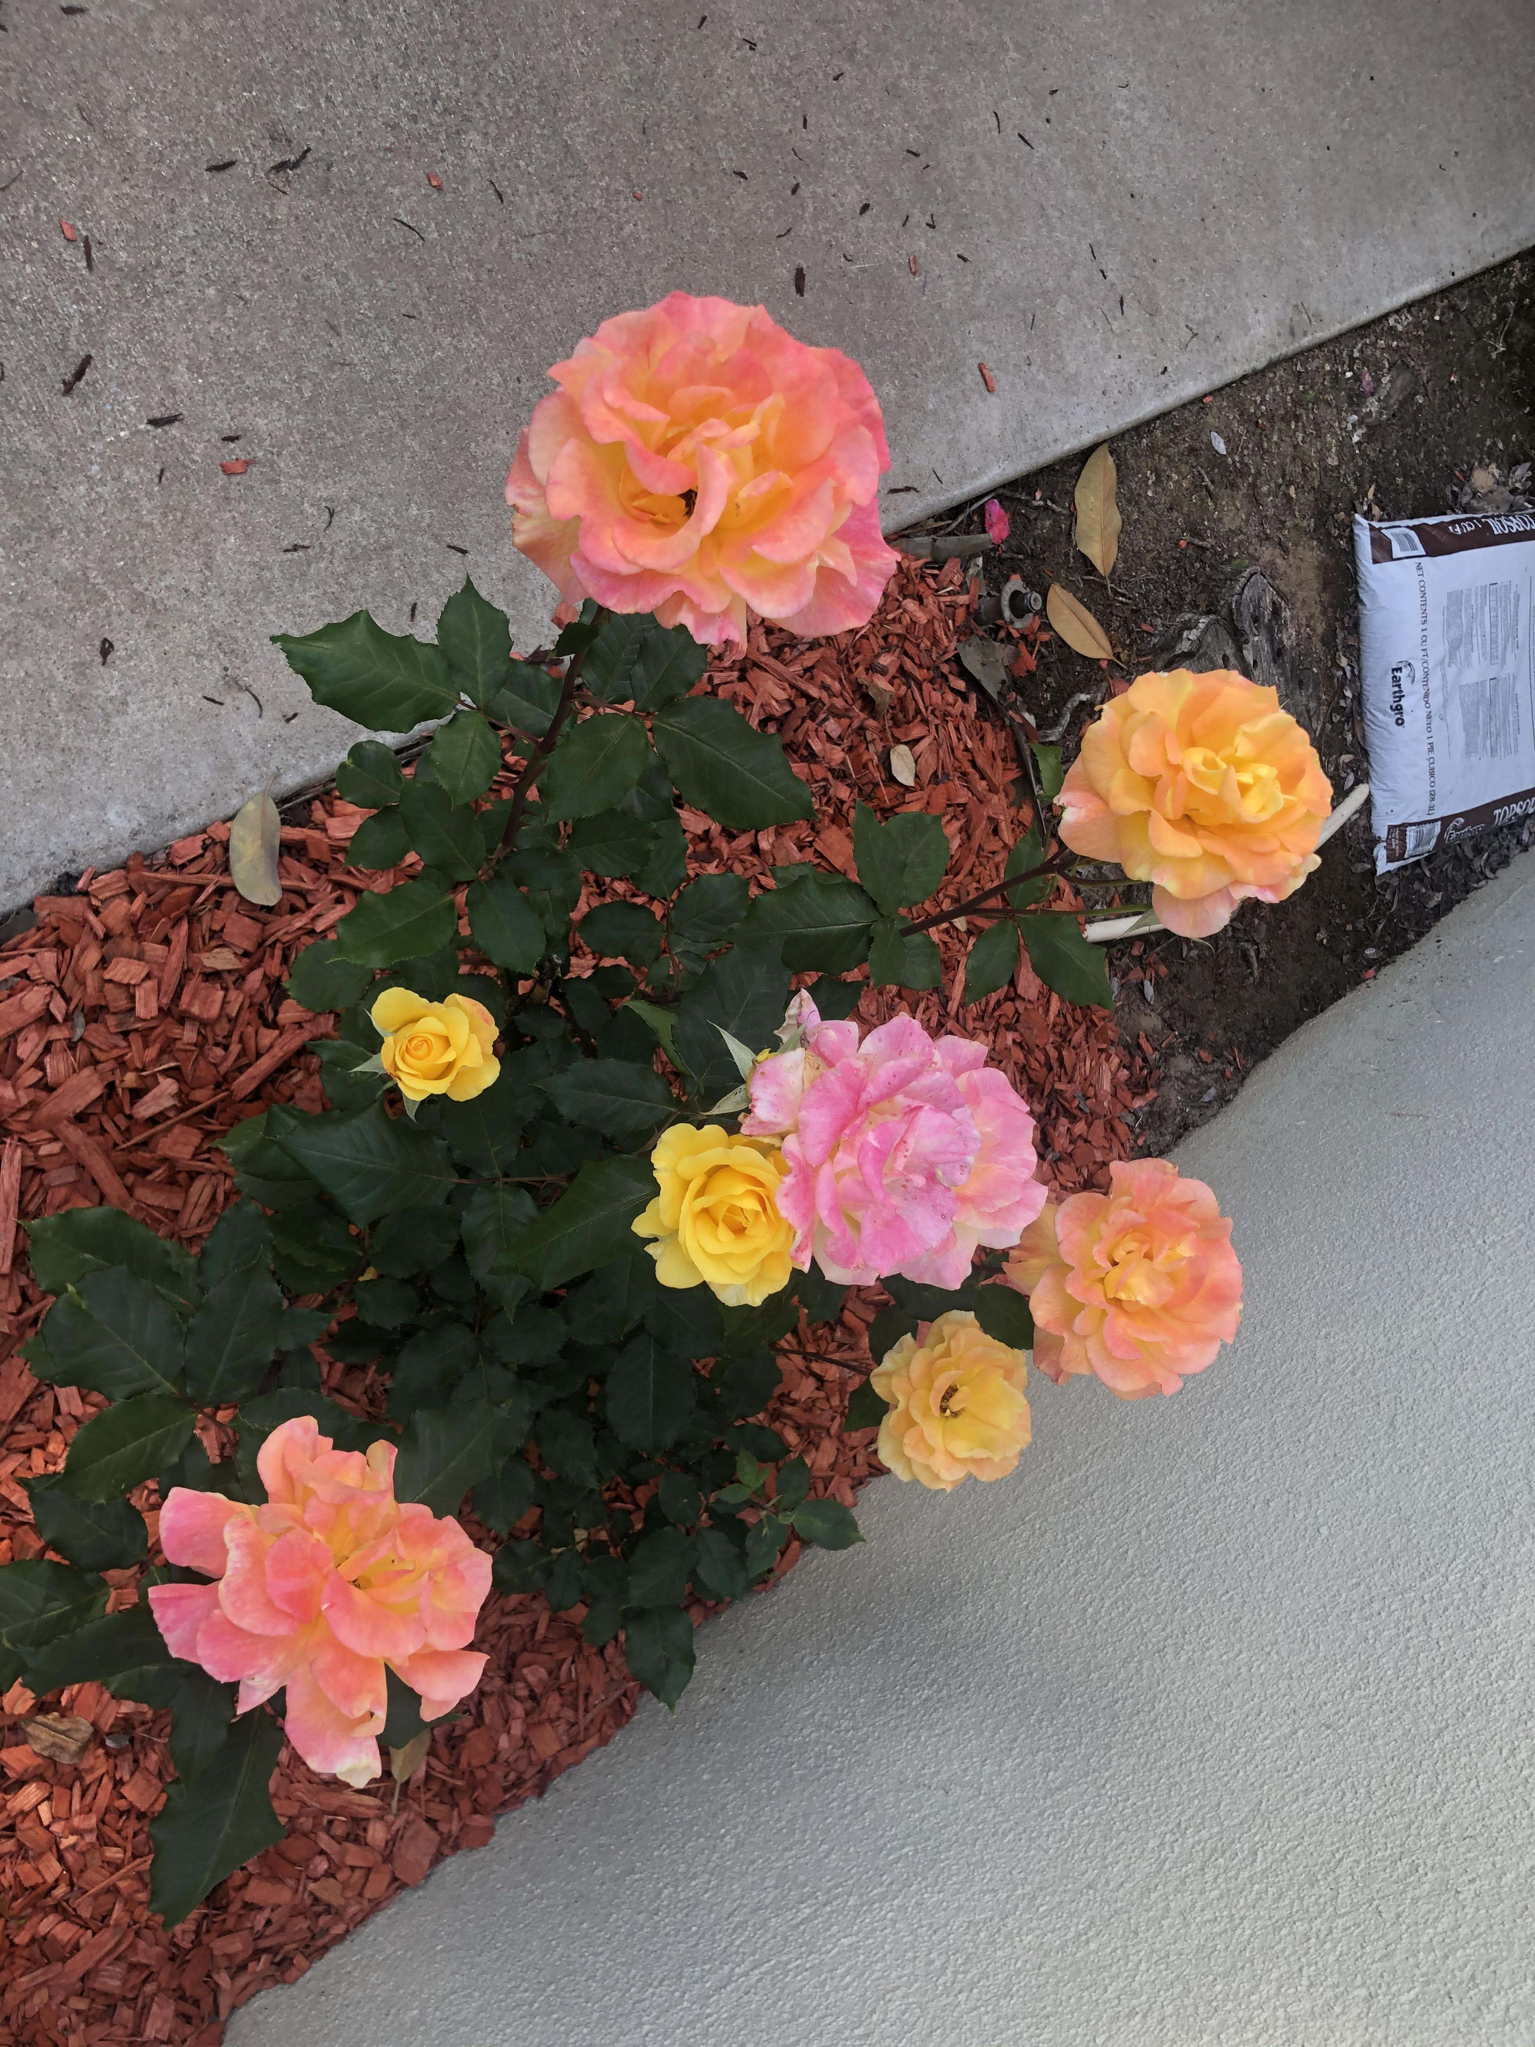
M 1011 800 L 1009 735 L 954 659 L 974 602 L 958 563 L 903 563 L 862 633 L 798 643 L 753 628 L 747 655 L 716 667 L 710 686 L 782 735 L 817 823 L 727 833 L 684 811 L 692 870 L 761 878 L 819 856 L 851 872 L 862 796 L 880 815 L 944 819 L 956 850 L 946 901 L 997 880 L 1025 817 Z M 1027 643 L 1019 659 L 1027 663 Z M 896 741 L 917 757 L 913 790 L 890 780 Z M 332 792 L 284 825 L 284 890 L 270 911 L 235 895 L 229 827 L 211 825 L 162 856 L 82 876 L 74 895 L 39 897 L 37 925 L 0 948 L 0 1562 L 43 1554 L 20 1478 L 57 1470 L 74 1431 L 102 1406 L 76 1388 L 39 1386 L 14 1355 L 49 1306 L 18 1220 L 111 1202 L 196 1249 L 235 1191 L 219 1136 L 270 1101 L 323 1107 L 305 1044 L 330 1019 L 284 997 L 282 978 L 362 890 L 393 878 L 346 866 L 362 815 Z M 911 999 L 913 1011 L 929 1030 L 986 1040 L 1040 1120 L 1044 1175 L 1060 1193 L 1101 1183 L 1111 1159 L 1134 1152 L 1134 1118 L 1154 1097 L 1150 1040 L 1126 1048 L 1107 1011 L 1062 1005 L 1027 962 L 1011 987 L 964 1011 L 954 968 L 968 938 L 950 927 L 937 942 L 946 989 Z M 870 989 L 860 1017 L 878 1021 L 903 1001 Z M 864 1331 L 880 1300 L 878 1290 L 856 1296 L 841 1324 L 802 1329 L 784 1345 L 784 1386 L 768 1414 L 808 1460 L 815 1490 L 847 1505 L 880 1470 L 872 1431 L 839 1427 L 868 1369 Z M 323 1378 L 352 1412 L 381 1410 L 372 1367 L 330 1361 Z M 219 1423 L 207 1431 L 213 1447 Z M 154 1488 L 137 1498 L 158 1558 Z M 796 1554 L 790 1543 L 780 1570 Z M 113 1607 L 133 1605 L 139 1574 L 108 1576 Z M 147 1824 L 170 1775 L 168 1715 L 98 1685 L 49 1701 L 14 1687 L 0 1701 L 0 2047 L 213 2047 L 237 2004 L 303 1975 L 444 1855 L 483 1846 L 495 1814 L 612 1740 L 639 1687 L 616 1644 L 581 1642 L 581 1617 L 579 1607 L 555 1615 L 542 1599 L 491 1597 L 475 1636 L 491 1658 L 485 1681 L 397 1799 L 387 1777 L 352 1791 L 284 1748 L 272 1797 L 289 1838 L 172 1932 L 147 1910 Z M 92 1724 L 78 1765 L 29 1746 L 23 1728 L 37 1705 Z

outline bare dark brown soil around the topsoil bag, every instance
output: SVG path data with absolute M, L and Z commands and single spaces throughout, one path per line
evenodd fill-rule
M 1081 456 L 997 491 L 1013 530 L 982 557 L 982 581 L 991 592 L 1009 575 L 1038 592 L 1064 583 L 1109 633 L 1124 673 L 1138 676 L 1236 665 L 1232 598 L 1240 614 L 1248 571 L 1263 571 L 1289 612 L 1269 628 L 1281 696 L 1341 798 L 1369 774 L 1351 516 L 1506 510 L 1508 473 L 1535 454 L 1531 401 L 1535 260 L 1525 254 L 1115 438 L 1124 532 L 1107 585 L 1072 547 Z M 1478 469 L 1488 471 L 1476 477 L 1482 495 Z M 980 532 L 980 506 L 956 510 L 939 530 Z M 1052 641 L 1017 700 L 1050 731 L 1083 690 L 1103 692 L 1101 671 Z M 1074 708 L 1066 759 L 1091 710 L 1091 700 Z M 1529 823 L 1488 831 L 1377 882 L 1365 809 L 1287 903 L 1246 903 L 1208 944 L 1156 933 L 1134 958 L 1115 948 L 1126 1038 L 1144 1032 L 1160 1052 L 1140 1146 L 1165 1152 L 1214 1116 L 1244 1069 L 1373 978 L 1529 843 Z

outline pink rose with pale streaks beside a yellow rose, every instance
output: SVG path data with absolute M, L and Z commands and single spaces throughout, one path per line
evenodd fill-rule
M 778 1208 L 800 1271 L 815 1257 L 845 1286 L 901 1273 L 952 1290 L 976 1245 L 1015 1245 L 1040 1214 L 1034 1118 L 984 1046 L 933 1040 L 909 1015 L 860 1044 L 858 1024 L 823 1024 L 806 993 L 780 1036 L 741 1130 L 784 1142 Z

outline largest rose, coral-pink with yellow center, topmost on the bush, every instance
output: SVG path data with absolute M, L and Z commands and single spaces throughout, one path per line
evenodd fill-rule
M 655 612 L 745 645 L 747 608 L 800 635 L 862 626 L 896 565 L 890 467 L 856 362 L 759 305 L 673 291 L 604 319 L 549 373 L 506 479 L 512 538 L 567 604 Z

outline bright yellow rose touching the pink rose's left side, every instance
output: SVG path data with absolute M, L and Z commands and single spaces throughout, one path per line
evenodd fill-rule
M 659 1193 L 634 1222 L 661 1286 L 706 1286 L 727 1308 L 759 1308 L 794 1271 L 794 1226 L 778 1214 L 788 1171 L 776 1144 L 718 1124 L 673 1124 L 651 1152 Z

